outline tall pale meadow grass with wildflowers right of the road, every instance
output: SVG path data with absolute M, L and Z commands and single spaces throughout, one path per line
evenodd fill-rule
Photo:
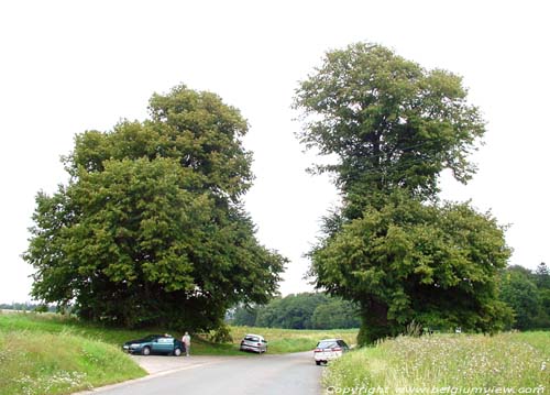
M 323 384 L 340 394 L 550 394 L 550 332 L 400 337 L 334 361 Z

